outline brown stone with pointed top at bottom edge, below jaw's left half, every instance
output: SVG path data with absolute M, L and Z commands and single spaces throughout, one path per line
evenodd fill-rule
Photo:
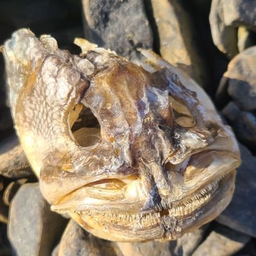
M 103 241 L 70 220 L 52 256 L 115 256 L 111 242 Z

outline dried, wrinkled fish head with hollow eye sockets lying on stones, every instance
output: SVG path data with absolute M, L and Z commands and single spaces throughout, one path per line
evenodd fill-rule
M 16 131 L 52 211 L 129 242 L 177 239 L 218 216 L 240 158 L 207 95 L 152 52 L 138 66 L 76 44 L 81 56 L 20 29 L 2 48 Z

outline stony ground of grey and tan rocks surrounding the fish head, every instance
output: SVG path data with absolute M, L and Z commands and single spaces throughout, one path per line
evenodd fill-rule
M 236 133 L 243 162 L 231 204 L 195 233 L 169 243 L 93 237 L 42 198 L 15 136 L 0 56 L 0 256 L 256 255 L 255 17 L 252 0 L 1 1 L 0 45 L 27 27 L 51 33 L 72 53 L 79 53 L 73 39 L 85 37 L 134 62 L 138 47 L 161 54 L 209 93 Z

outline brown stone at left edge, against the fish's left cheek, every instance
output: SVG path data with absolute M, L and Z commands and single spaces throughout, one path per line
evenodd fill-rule
M 33 174 L 27 157 L 15 134 L 0 142 L 0 175 L 7 178 L 22 178 Z

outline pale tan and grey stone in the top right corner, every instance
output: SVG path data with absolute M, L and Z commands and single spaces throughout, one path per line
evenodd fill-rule
M 243 26 L 256 31 L 255 16 L 256 1 L 212 0 L 210 24 L 214 44 L 229 57 L 234 57 L 238 52 L 237 28 Z

